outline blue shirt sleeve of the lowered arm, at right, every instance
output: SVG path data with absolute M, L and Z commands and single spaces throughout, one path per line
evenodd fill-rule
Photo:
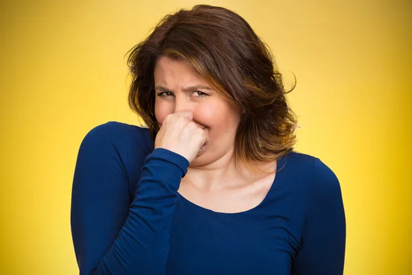
M 292 274 L 341 275 L 346 241 L 341 186 L 332 170 L 318 158 L 308 189 L 308 217 Z

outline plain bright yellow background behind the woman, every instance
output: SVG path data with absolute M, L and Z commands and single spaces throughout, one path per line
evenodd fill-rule
M 70 231 L 80 142 L 138 124 L 124 54 L 196 1 L 1 1 L 0 274 L 78 274 Z M 412 274 L 411 1 L 205 1 L 270 45 L 299 115 L 297 150 L 339 177 L 345 274 Z

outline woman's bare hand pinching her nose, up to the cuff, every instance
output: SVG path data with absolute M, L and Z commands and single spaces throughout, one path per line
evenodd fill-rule
M 207 133 L 192 120 L 192 111 L 177 111 L 167 115 L 156 135 L 155 148 L 168 149 L 192 162 L 206 150 L 209 143 Z

